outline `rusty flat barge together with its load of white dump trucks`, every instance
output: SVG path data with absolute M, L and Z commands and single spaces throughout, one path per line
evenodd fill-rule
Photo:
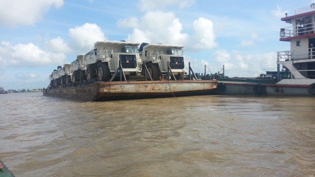
M 145 43 L 140 58 L 139 44 L 97 41 L 87 54 L 58 66 L 49 76 L 50 84 L 43 95 L 108 101 L 208 95 L 216 89 L 217 80 L 198 80 L 190 62 L 187 80 L 183 46 Z

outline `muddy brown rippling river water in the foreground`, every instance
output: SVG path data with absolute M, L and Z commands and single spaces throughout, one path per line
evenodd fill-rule
M 0 95 L 16 176 L 314 176 L 315 97 Z

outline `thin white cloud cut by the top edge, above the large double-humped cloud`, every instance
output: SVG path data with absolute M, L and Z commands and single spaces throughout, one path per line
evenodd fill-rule
M 147 1 L 141 0 L 139 2 L 140 10 L 148 11 L 154 9 L 163 9 L 168 6 L 178 7 L 180 9 L 191 7 L 195 4 L 195 0 L 160 0 L 160 1 Z

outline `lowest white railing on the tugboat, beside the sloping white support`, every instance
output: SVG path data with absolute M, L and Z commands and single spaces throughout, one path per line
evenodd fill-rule
M 292 61 L 292 60 L 305 60 L 315 59 L 315 48 L 308 48 L 308 52 L 296 53 L 295 51 L 282 51 L 277 52 L 277 61 Z

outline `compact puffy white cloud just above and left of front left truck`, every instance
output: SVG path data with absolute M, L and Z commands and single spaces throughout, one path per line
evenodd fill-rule
M 107 40 L 101 27 L 94 23 L 85 23 L 82 26 L 70 28 L 69 36 L 71 45 L 84 52 L 92 50 L 96 41 Z

